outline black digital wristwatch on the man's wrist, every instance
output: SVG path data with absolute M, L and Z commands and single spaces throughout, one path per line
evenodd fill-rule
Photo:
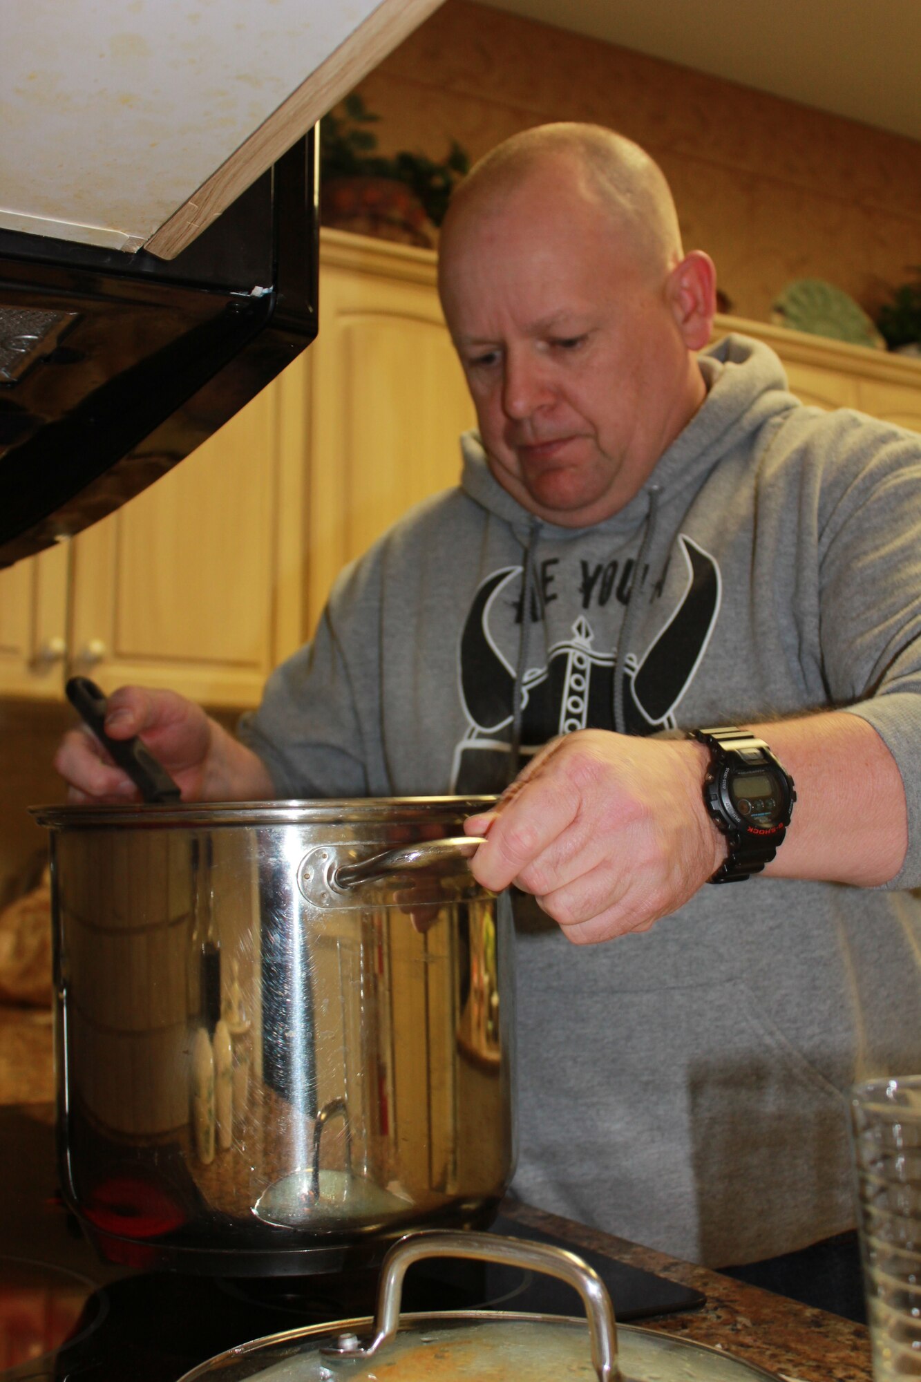
M 691 730 L 709 749 L 704 804 L 729 840 L 726 862 L 711 883 L 741 883 L 761 873 L 783 844 L 792 806 L 794 782 L 763 739 L 750 730 Z

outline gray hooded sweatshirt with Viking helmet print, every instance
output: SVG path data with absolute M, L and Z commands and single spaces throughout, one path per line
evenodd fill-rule
M 520 907 L 516 1189 L 725 1266 L 850 1226 L 844 1092 L 921 1071 L 921 441 L 803 408 L 744 337 L 701 369 L 704 406 L 589 529 L 523 510 L 467 434 L 462 486 L 342 574 L 241 735 L 279 795 L 343 797 L 501 791 L 584 726 L 877 728 L 909 800 L 889 889 L 704 887 L 588 948 Z

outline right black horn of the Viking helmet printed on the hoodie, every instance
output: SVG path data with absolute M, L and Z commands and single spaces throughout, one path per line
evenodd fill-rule
M 626 683 L 628 730 L 632 734 L 649 734 L 675 712 L 704 656 L 719 612 L 719 567 L 683 532 L 678 540 L 687 562 L 687 589 Z

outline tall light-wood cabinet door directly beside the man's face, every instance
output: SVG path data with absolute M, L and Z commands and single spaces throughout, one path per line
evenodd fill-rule
M 386 254 L 373 258 L 376 272 L 321 267 L 308 629 L 347 561 L 412 504 L 456 485 L 459 437 L 476 423 L 431 265 L 427 282 L 412 281 L 387 276 Z

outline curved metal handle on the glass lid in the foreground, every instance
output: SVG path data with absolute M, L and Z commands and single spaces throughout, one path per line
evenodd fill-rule
M 354 1334 L 340 1336 L 339 1347 L 321 1349 L 329 1359 L 369 1359 L 394 1338 L 400 1325 L 400 1298 L 402 1278 L 413 1262 L 423 1258 L 474 1258 L 478 1262 L 499 1262 L 509 1267 L 523 1267 L 527 1271 L 546 1271 L 574 1287 L 582 1298 L 588 1316 L 592 1343 L 592 1367 L 599 1382 L 615 1382 L 620 1378 L 617 1367 L 617 1325 L 614 1307 L 604 1282 L 585 1262 L 546 1242 L 527 1242 L 520 1238 L 501 1238 L 487 1233 L 449 1233 L 429 1230 L 412 1233 L 394 1244 L 383 1260 L 378 1310 L 375 1313 L 375 1336 L 366 1349 L 358 1346 Z

